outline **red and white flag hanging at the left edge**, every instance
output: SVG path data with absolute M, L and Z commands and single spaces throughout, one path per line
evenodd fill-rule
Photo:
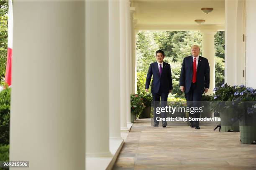
M 13 57 L 13 2 L 9 0 L 8 10 L 8 48 L 7 48 L 7 61 L 5 70 L 5 82 L 8 86 L 11 85 L 12 79 L 12 57 Z

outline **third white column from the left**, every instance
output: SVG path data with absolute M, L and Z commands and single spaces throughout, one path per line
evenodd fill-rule
M 120 136 L 120 2 L 109 1 L 109 136 Z

